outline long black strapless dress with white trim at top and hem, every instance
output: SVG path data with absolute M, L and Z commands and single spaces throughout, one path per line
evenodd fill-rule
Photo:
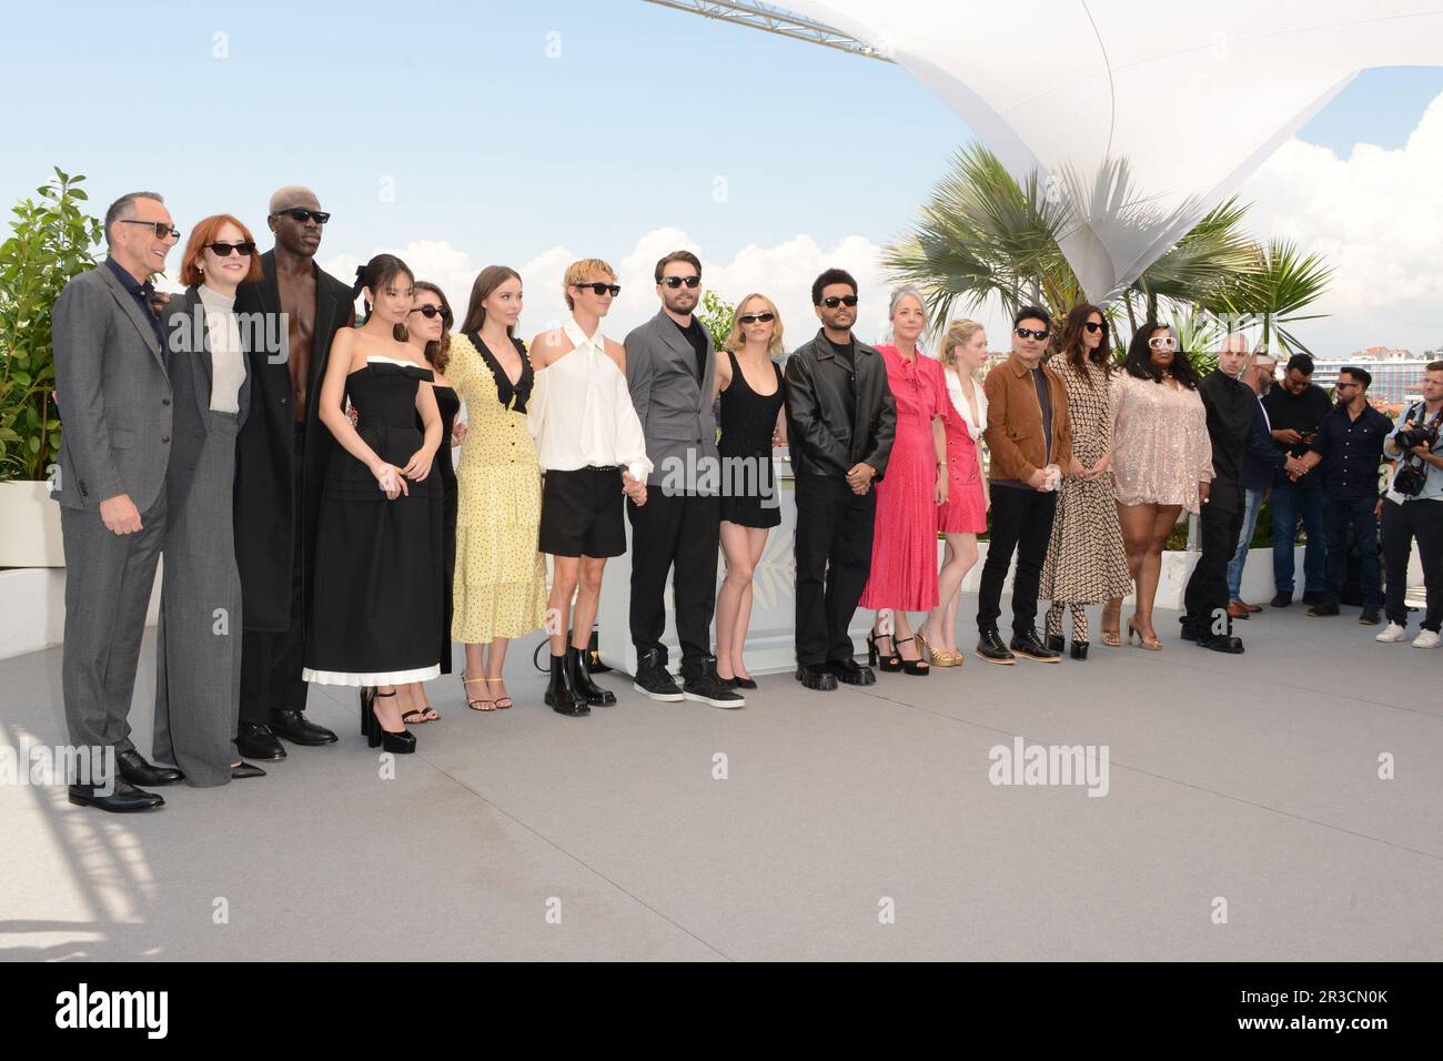
M 356 432 L 404 468 L 420 449 L 416 390 L 431 372 L 371 358 L 346 377 Z M 369 469 L 336 446 L 316 520 L 315 596 L 303 677 L 326 686 L 391 686 L 440 673 L 443 601 L 431 476 L 387 499 Z

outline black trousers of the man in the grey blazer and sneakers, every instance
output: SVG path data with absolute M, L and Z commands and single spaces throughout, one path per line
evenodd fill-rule
M 696 665 L 711 655 L 711 618 L 717 602 L 717 546 L 722 538 L 722 498 L 667 495 L 646 491 L 646 504 L 626 502 L 632 524 L 631 628 L 636 652 L 667 650 L 667 575 L 677 609 L 681 664 Z

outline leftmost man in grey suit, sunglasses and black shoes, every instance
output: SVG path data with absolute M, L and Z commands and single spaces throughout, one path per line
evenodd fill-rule
M 165 804 L 136 785 L 180 780 L 130 741 L 146 608 L 166 530 L 172 394 L 149 277 L 180 232 L 154 192 L 105 211 L 110 257 L 71 280 L 51 315 L 62 435 L 52 497 L 65 541 L 62 689 L 71 743 L 114 748 L 118 775 L 71 784 L 69 800 L 105 811 Z

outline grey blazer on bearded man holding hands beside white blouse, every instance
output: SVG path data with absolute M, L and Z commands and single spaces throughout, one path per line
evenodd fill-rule
M 701 333 L 707 358 L 697 378 L 697 352 L 667 312 L 658 310 L 626 336 L 626 385 L 652 462 L 646 484 L 684 484 L 687 494 L 717 494 L 716 349 L 711 332 L 703 326 Z M 707 478 L 698 482 L 698 472 Z

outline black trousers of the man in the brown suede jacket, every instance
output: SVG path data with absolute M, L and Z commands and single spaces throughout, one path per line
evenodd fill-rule
M 993 486 L 991 537 L 977 592 L 977 629 L 994 629 L 1001 615 L 1001 583 L 1007 580 L 1012 554 L 1017 573 L 1012 580 L 1012 632 L 1026 637 L 1038 625 L 1038 585 L 1042 562 L 1052 540 L 1052 517 L 1058 511 L 1056 491 L 1027 486 Z

